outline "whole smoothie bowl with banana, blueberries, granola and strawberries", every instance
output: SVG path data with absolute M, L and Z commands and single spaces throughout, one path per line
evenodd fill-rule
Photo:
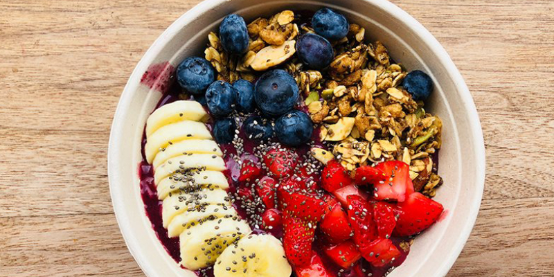
M 147 276 L 445 276 L 484 163 L 442 46 L 346 0 L 200 3 L 136 66 L 108 157 Z

